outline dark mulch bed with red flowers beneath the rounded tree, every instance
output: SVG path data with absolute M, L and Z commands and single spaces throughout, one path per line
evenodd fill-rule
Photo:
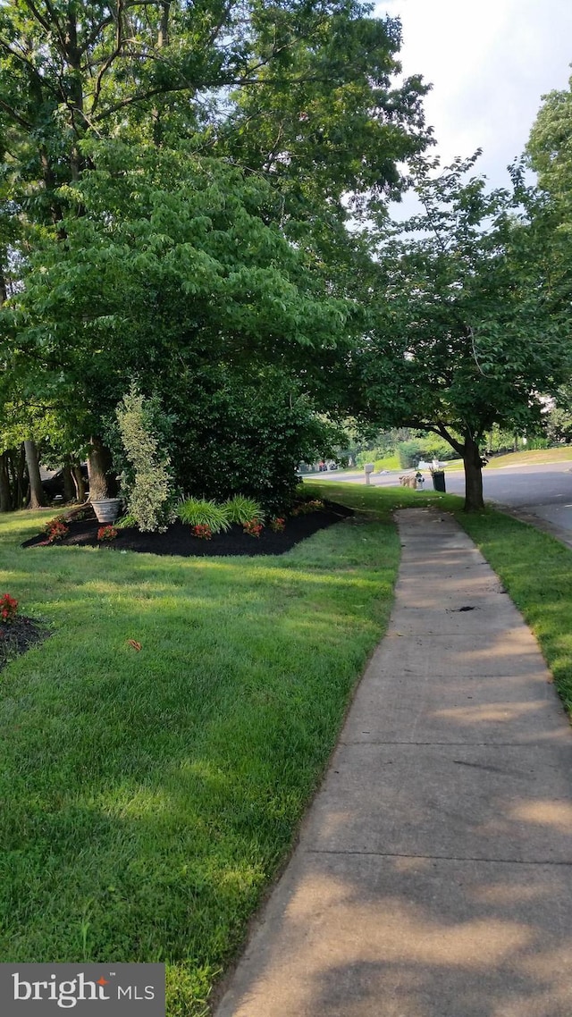
M 190 527 L 182 523 L 173 523 L 165 533 L 139 533 L 136 527 L 119 530 L 118 536 L 112 541 L 98 541 L 98 523 L 93 514 L 82 520 L 72 520 L 67 525 L 69 532 L 57 543 L 48 546 L 64 547 L 109 547 L 115 551 L 146 551 L 151 554 L 178 554 L 183 557 L 195 555 L 247 555 L 284 554 L 292 547 L 311 537 L 319 530 L 324 530 L 334 523 L 352 516 L 353 513 L 345 505 L 326 502 L 324 510 L 305 515 L 289 517 L 282 533 L 273 533 L 265 527 L 260 537 L 245 534 L 241 526 L 232 526 L 227 533 L 217 533 L 211 540 L 193 537 Z M 22 547 L 45 547 L 46 537 L 39 534 L 32 540 L 26 540 Z

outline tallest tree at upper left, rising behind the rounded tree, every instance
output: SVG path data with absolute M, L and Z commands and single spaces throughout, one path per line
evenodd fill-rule
M 424 87 L 417 78 L 392 85 L 399 70 L 399 24 L 371 17 L 371 9 L 354 0 L 271 4 L 261 0 L 192 4 L 118 0 L 113 5 L 8 0 L 0 9 L 6 237 L 5 242 L 0 237 L 0 283 L 12 272 L 19 286 L 25 261 L 39 243 L 38 227 L 43 231 L 41 245 L 47 242 L 46 234 L 60 242 L 62 263 L 68 265 L 70 251 L 76 255 L 70 231 L 75 237 L 81 227 L 76 231 L 71 224 L 85 210 L 76 192 L 66 188 L 73 189 L 94 168 L 91 141 L 112 138 L 134 149 L 151 143 L 173 152 L 182 139 L 186 158 L 190 151 L 207 154 L 243 167 L 252 179 L 270 182 L 280 200 L 265 215 L 273 217 L 290 242 L 316 265 L 328 268 L 322 272 L 323 287 L 328 276 L 329 292 L 344 293 L 352 259 L 344 194 L 351 192 L 367 204 L 399 189 L 398 162 L 426 142 L 420 107 Z M 111 191 L 108 187 L 108 215 L 113 215 L 114 207 Z M 164 232 L 167 235 L 168 229 Z M 14 247 L 18 233 L 21 241 Z M 239 247 L 239 257 L 241 251 Z M 248 258 L 244 268 L 248 270 Z M 121 265 L 115 270 L 121 278 Z M 85 273 L 85 295 L 91 296 L 88 267 L 83 264 L 80 271 Z M 104 278 L 109 277 L 109 271 L 104 272 Z M 187 280 L 187 284 L 192 282 Z M 31 301 L 33 294 L 44 291 L 35 288 L 32 276 L 26 286 L 28 312 L 39 320 L 44 313 L 42 303 L 34 311 Z M 0 296 L 5 289 L 0 286 Z M 121 285 L 118 292 L 122 292 Z M 154 293 L 152 281 L 148 292 Z M 58 293 L 61 299 L 61 288 Z M 215 293 L 216 289 L 211 297 Z M 219 299 L 226 298 L 219 294 Z M 82 301 L 90 320 L 98 317 L 95 300 L 96 307 L 91 309 Z M 173 313 L 163 346 L 179 327 L 174 310 L 180 300 L 175 294 L 169 300 Z M 275 309 L 269 291 L 265 313 Z M 209 313 L 212 334 L 217 335 L 220 314 L 213 300 Z M 155 332 L 163 324 L 161 314 Z M 181 311 L 180 336 L 185 330 L 186 310 Z M 253 326 L 251 339 L 255 333 Z M 295 327 L 292 335 L 298 373 L 303 374 Z M 242 336 L 242 359 L 249 359 L 252 369 L 260 355 L 256 342 L 246 342 L 245 327 Z M 133 347 L 128 352 L 125 332 L 121 341 L 116 335 L 113 339 L 108 361 L 121 350 L 122 365 L 140 368 L 136 330 L 129 332 Z M 105 456 L 93 408 L 93 395 L 105 392 L 107 385 L 106 371 L 103 376 L 99 372 L 99 335 L 76 321 L 73 336 L 68 337 L 70 355 L 63 361 L 68 369 L 62 375 L 50 353 L 55 344 L 44 342 L 37 348 L 21 318 L 10 340 L 6 366 L 19 370 L 22 358 L 30 366 L 33 351 L 35 391 L 47 407 L 65 406 L 65 434 L 74 415 L 79 437 L 91 421 L 91 467 L 94 480 L 103 483 Z M 332 350 L 324 351 L 323 357 L 325 397 L 330 392 L 328 368 L 337 359 Z M 11 395 L 8 386 L 8 401 Z

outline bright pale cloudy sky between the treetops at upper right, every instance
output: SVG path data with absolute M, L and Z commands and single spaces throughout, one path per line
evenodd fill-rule
M 508 184 L 541 96 L 568 87 L 572 0 L 386 0 L 376 14 L 401 17 L 403 71 L 433 83 L 424 105 L 442 165 L 482 148 L 476 169 Z

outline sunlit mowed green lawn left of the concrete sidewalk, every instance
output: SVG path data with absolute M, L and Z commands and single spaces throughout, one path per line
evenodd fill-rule
M 21 549 L 52 515 L 0 518 L 0 593 L 53 633 L 0 674 L 0 954 L 166 962 L 169 1017 L 203 1014 L 385 630 L 395 528 L 280 557 Z

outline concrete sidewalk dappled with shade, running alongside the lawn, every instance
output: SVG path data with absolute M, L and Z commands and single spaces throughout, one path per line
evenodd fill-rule
M 399 527 L 387 638 L 217 1017 L 572 1015 L 572 732 L 454 520 Z

